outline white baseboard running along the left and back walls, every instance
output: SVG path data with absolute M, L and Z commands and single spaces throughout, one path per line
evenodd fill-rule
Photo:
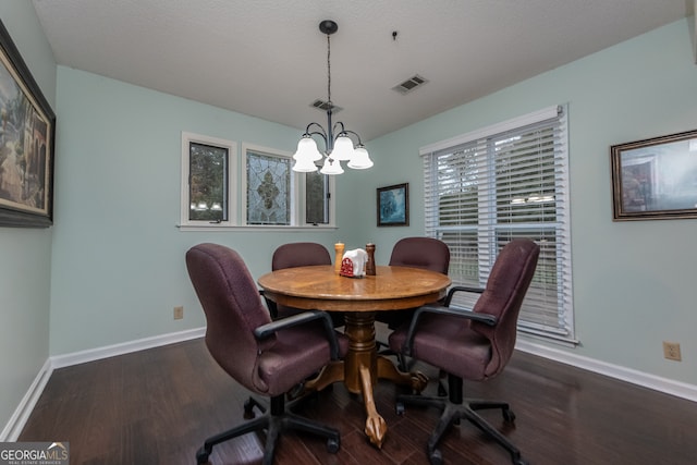
M 155 335 L 152 338 L 138 339 L 136 341 L 124 342 L 121 344 L 107 345 L 103 347 L 49 357 L 0 433 L 0 442 L 14 442 L 17 440 L 20 433 L 24 429 L 26 420 L 29 418 L 36 402 L 44 392 L 44 388 L 54 369 L 203 338 L 205 333 L 206 328 L 195 328 L 186 331 Z

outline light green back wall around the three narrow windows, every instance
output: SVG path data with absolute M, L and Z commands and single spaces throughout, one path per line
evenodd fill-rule
M 184 266 L 199 242 L 237 249 L 256 277 L 284 242 L 335 241 L 334 230 L 175 228 L 182 131 L 290 150 L 299 130 L 63 66 L 58 121 L 51 354 L 204 326 Z

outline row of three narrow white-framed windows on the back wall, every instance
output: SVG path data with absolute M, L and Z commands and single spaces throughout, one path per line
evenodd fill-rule
M 237 157 L 236 142 L 182 132 L 180 225 L 333 228 L 332 176 L 292 166 L 281 150 L 243 144 Z

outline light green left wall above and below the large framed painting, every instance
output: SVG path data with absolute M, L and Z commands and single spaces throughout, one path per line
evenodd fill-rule
M 56 62 L 34 7 L 0 2 L 0 19 L 54 108 Z M 0 430 L 48 358 L 50 229 L 0 228 Z

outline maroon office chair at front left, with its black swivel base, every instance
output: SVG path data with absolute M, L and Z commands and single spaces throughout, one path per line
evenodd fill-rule
M 206 314 L 206 345 L 216 362 L 253 393 L 271 397 L 270 409 L 259 401 L 245 404 L 245 417 L 257 406 L 262 416 L 207 439 L 196 453 L 208 462 L 220 442 L 266 429 L 264 464 L 273 462 L 279 435 L 299 429 L 327 438 L 340 448 L 339 431 L 299 417 L 285 406 L 285 393 L 331 359 L 345 354 L 347 341 L 337 334 L 323 311 L 307 311 L 271 321 L 257 286 L 240 255 L 222 245 L 199 244 L 186 253 L 186 268 Z

